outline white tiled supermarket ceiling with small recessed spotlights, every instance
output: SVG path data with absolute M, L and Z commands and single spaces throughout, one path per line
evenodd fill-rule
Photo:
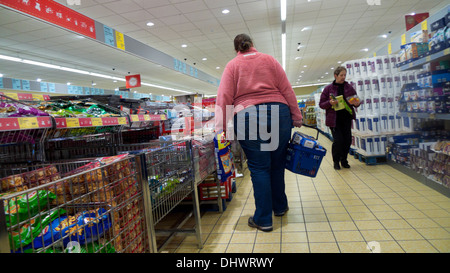
M 63 5 L 116 29 L 179 60 L 196 63 L 199 70 L 220 79 L 235 56 L 233 39 L 247 33 L 255 47 L 281 62 L 279 0 L 80 0 Z M 369 57 L 388 43 L 380 35 L 399 37 L 405 32 L 404 15 L 442 9 L 449 0 L 287 0 L 286 72 L 293 86 L 332 80 L 338 61 Z M 223 14 L 223 9 L 228 14 Z M 146 23 L 153 22 L 153 27 Z M 307 30 L 302 31 L 307 27 Z M 301 48 L 297 51 L 298 43 Z M 186 44 L 186 48 L 181 45 Z M 368 48 L 368 52 L 361 51 Z M 393 49 L 396 50 L 396 49 Z M 26 58 L 124 78 L 140 73 L 147 83 L 203 94 L 217 87 L 161 67 L 72 32 L 0 8 L 0 54 Z M 207 58 L 203 61 L 202 58 Z M 296 60 L 296 57 L 300 57 Z M 304 66 L 307 66 L 306 68 Z M 219 67 L 219 69 L 217 69 Z M 115 68 L 115 70 L 113 70 Z M 303 73 L 302 73 L 303 71 Z M 328 72 L 328 74 L 325 74 Z M 0 60 L 4 77 L 114 89 L 123 82 L 84 76 Z M 300 81 L 298 82 L 299 76 Z M 324 77 L 323 79 L 321 77 Z M 141 87 L 139 92 L 183 93 Z

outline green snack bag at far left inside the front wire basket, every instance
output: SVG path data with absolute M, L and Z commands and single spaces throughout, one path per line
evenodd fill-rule
M 38 190 L 5 201 L 6 225 L 9 227 L 35 216 L 40 211 L 46 210 L 47 204 L 54 199 L 56 199 L 56 194 Z

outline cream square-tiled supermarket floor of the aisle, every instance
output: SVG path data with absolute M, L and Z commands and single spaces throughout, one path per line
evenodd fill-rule
M 330 140 L 319 142 L 328 152 L 316 178 L 286 172 L 290 210 L 274 217 L 272 232 L 247 225 L 254 211 L 247 170 L 226 210 L 202 215 L 202 249 L 195 236 L 177 235 L 163 252 L 450 252 L 450 198 L 387 165 L 349 157 L 351 168 L 336 171 Z

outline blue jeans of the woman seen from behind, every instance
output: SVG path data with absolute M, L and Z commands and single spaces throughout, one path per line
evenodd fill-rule
M 282 103 L 264 103 L 252 108 L 234 116 L 234 129 L 251 173 L 256 206 L 253 220 L 267 227 L 272 226 L 272 211 L 280 213 L 288 206 L 284 170 L 292 119 L 289 107 Z

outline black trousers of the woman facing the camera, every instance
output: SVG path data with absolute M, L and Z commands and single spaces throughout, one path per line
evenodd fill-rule
M 337 119 L 336 127 L 330 128 L 333 135 L 333 144 L 331 145 L 331 153 L 334 163 L 348 163 L 347 155 L 352 144 L 352 120 Z

